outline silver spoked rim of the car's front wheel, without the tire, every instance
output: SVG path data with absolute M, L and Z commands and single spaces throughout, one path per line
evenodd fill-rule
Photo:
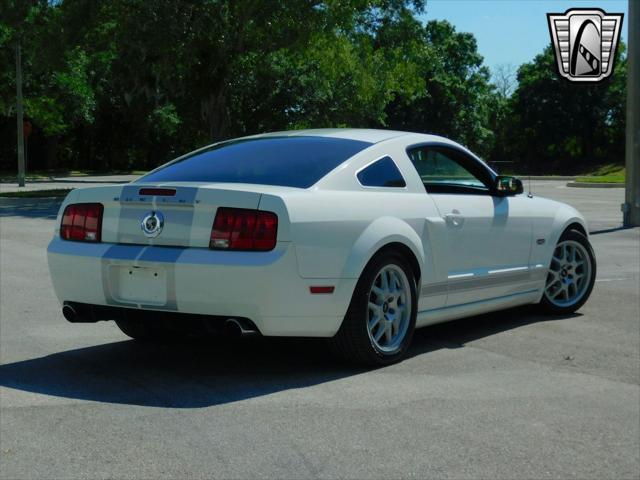
M 558 307 L 576 305 L 591 287 L 592 269 L 585 245 L 575 240 L 560 241 L 547 274 L 547 301 Z

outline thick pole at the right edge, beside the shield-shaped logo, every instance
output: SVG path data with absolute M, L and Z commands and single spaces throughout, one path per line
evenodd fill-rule
M 626 188 L 623 225 L 640 226 L 640 0 L 629 0 L 627 53 Z

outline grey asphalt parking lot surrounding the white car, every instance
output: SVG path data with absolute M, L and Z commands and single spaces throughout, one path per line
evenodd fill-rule
M 596 232 L 590 301 L 422 329 L 370 371 L 317 341 L 140 346 L 69 324 L 55 210 L 0 206 L 0 477 L 639 478 L 640 229 L 617 228 L 622 189 L 533 190 Z

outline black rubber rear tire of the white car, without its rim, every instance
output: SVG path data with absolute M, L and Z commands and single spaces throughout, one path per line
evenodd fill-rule
M 385 266 L 399 267 L 408 279 L 411 292 L 411 315 L 407 330 L 399 349 L 393 353 L 385 353 L 377 348 L 367 329 L 371 287 L 378 272 Z M 411 345 L 415 331 L 417 304 L 416 279 L 405 258 L 393 251 L 383 251 L 377 254 L 365 267 L 356 284 L 340 330 L 329 340 L 331 350 L 345 360 L 368 366 L 390 365 L 402 360 Z

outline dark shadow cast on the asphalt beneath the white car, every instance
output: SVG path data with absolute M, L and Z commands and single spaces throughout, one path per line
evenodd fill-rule
M 559 318 L 518 308 L 427 327 L 416 332 L 409 357 L 463 348 L 479 338 Z M 318 339 L 261 337 L 156 345 L 121 341 L 1 365 L 0 385 L 97 402 L 202 408 L 373 370 L 335 360 L 326 347 Z

